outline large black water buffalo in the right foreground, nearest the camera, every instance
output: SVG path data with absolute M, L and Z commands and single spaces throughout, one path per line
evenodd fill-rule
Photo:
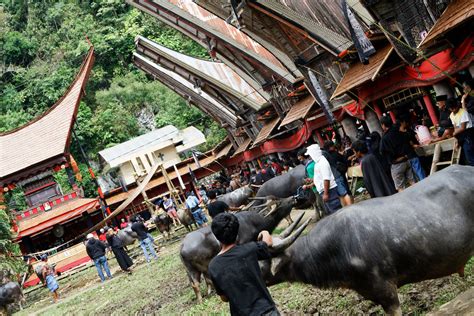
M 401 193 L 346 207 L 262 268 L 268 285 L 357 291 L 401 314 L 397 287 L 463 272 L 474 255 L 474 168 L 451 166 Z

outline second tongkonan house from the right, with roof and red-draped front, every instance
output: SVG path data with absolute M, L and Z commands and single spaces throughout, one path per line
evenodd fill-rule
M 284 152 L 286 144 L 301 146 L 314 135 L 322 143 L 320 129 L 337 123 L 345 112 L 341 108 L 353 103 L 343 96 L 329 102 L 337 82 L 343 75 L 347 58 L 355 58 L 348 49 L 353 46 L 349 28 L 338 2 L 332 1 L 237 1 L 198 0 L 199 6 L 224 19 L 275 56 L 285 55 L 305 79 L 280 94 L 280 103 L 287 104 L 278 113 L 279 120 L 269 119 L 251 145 L 258 153 Z M 336 113 L 333 113 L 336 112 Z M 316 120 L 316 121 L 315 121 Z M 285 133 L 285 129 L 290 132 Z M 269 139 L 278 146 L 265 145 Z M 287 142 L 282 142 L 287 139 Z M 298 140 L 298 141 L 295 141 Z

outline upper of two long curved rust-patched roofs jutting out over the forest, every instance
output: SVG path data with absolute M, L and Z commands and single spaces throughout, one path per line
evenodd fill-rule
M 192 0 L 128 2 L 215 52 L 218 59 L 254 88 L 270 83 L 274 78 L 287 82 L 296 80 L 296 73 L 289 72 L 266 48 Z

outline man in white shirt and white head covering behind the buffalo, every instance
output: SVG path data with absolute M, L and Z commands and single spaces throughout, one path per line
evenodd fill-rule
M 306 150 L 306 155 L 314 161 L 313 182 L 316 190 L 321 195 L 324 205 L 329 214 L 335 213 L 342 208 L 339 195 L 337 194 L 337 184 L 331 171 L 331 165 L 323 156 L 319 145 L 311 145 Z

